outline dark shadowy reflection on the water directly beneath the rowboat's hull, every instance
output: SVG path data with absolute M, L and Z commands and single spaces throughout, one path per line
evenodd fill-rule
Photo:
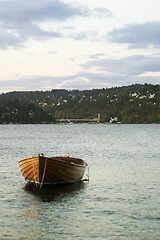
M 72 184 L 52 185 L 43 188 L 37 187 L 35 184 L 26 183 L 23 189 L 38 197 L 42 202 L 56 201 L 64 197 L 74 197 L 80 190 L 84 189 L 87 183 L 79 181 Z

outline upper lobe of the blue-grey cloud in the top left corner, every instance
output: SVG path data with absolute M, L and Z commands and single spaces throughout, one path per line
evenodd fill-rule
M 59 0 L 13 0 L 0 2 L 0 19 L 7 26 L 54 19 L 64 21 L 72 16 L 85 16 L 87 10 Z

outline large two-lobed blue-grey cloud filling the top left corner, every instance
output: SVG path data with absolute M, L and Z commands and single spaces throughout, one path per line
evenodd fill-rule
M 44 21 L 63 22 L 73 16 L 87 16 L 88 10 L 59 0 L 0 1 L 0 48 L 21 46 L 29 38 L 61 38 L 57 31 L 45 31 Z

